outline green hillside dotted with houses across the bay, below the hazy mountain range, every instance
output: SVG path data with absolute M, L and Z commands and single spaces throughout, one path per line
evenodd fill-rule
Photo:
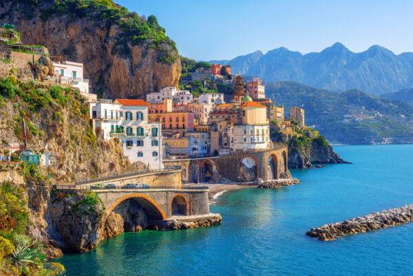
M 334 92 L 295 82 L 266 83 L 266 95 L 288 109 L 305 109 L 306 125 L 330 142 L 383 144 L 413 142 L 413 107 L 357 89 Z

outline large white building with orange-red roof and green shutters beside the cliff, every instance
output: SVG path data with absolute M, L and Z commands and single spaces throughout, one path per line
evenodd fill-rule
M 149 123 L 145 100 L 99 100 L 90 104 L 96 134 L 105 140 L 117 137 L 131 162 L 140 161 L 150 169 L 162 169 L 160 123 Z

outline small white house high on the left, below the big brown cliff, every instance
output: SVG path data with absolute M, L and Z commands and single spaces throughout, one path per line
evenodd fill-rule
M 89 80 L 83 78 L 83 63 L 63 61 L 53 63 L 54 73 L 61 83 L 70 83 L 81 90 L 81 93 L 89 94 Z

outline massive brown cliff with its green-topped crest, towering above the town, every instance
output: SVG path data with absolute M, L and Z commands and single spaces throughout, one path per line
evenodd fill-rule
M 147 21 L 112 1 L 6 0 L 0 22 L 14 24 L 25 44 L 83 63 L 99 96 L 139 98 L 178 87 L 178 50 L 165 29 L 154 17 Z

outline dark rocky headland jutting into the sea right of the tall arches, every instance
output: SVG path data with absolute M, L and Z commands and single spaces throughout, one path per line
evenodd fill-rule
M 324 145 L 313 140 L 309 145 L 290 147 L 288 145 L 288 167 L 290 169 L 304 169 L 313 167 L 313 164 L 342 164 L 348 163 L 332 150 L 330 145 Z

